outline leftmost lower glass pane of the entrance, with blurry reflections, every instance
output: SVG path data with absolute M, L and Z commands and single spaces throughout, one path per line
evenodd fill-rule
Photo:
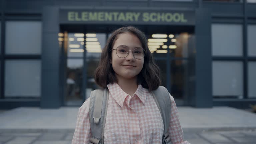
M 82 104 L 83 59 L 67 59 L 67 105 Z

